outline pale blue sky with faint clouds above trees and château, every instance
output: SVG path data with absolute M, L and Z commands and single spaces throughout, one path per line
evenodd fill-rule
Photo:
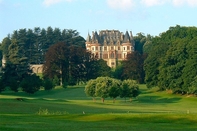
M 159 35 L 170 26 L 197 26 L 197 0 L 0 0 L 0 42 L 14 30 L 75 29 Z

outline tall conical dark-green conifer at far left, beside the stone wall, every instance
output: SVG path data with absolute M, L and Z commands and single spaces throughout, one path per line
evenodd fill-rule
M 2 69 L 2 80 L 5 86 L 17 92 L 19 83 L 31 73 L 25 51 L 18 41 L 12 40 L 9 48 L 5 67 Z

